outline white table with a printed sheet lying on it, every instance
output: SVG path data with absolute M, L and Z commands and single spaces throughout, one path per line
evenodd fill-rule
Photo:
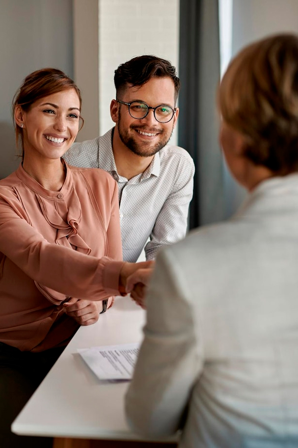
M 124 395 L 129 382 L 100 381 L 76 352 L 77 348 L 141 341 L 144 323 L 145 312 L 140 307 L 129 297 L 117 297 L 113 307 L 96 324 L 80 327 L 13 422 L 12 431 L 19 435 L 63 438 L 64 442 L 57 439 L 54 447 L 95 447 L 91 442 L 72 443 L 75 438 L 148 441 L 132 433 L 126 424 Z

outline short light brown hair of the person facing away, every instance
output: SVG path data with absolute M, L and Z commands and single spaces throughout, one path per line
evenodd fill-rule
M 246 137 L 245 156 L 277 175 L 298 171 L 298 36 L 246 46 L 218 92 L 224 121 Z

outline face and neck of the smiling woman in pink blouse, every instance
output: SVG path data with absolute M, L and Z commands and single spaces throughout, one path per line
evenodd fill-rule
M 35 101 L 27 112 L 19 105 L 14 108 L 15 122 L 22 130 L 23 169 L 49 190 L 59 190 L 64 183 L 65 171 L 59 159 L 74 143 L 79 112 L 80 101 L 73 88 Z M 56 162 L 51 183 L 47 180 L 45 185 L 43 167 L 48 159 L 58 161 L 60 175 Z

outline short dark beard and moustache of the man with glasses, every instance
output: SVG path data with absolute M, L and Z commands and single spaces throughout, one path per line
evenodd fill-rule
M 121 128 L 121 114 L 119 110 L 118 115 L 118 133 L 119 137 L 125 146 L 130 149 L 134 154 L 141 156 L 141 157 L 151 157 L 156 152 L 160 151 L 169 141 L 171 138 L 173 127 L 170 132 L 165 131 L 164 129 L 148 129 L 148 126 L 146 125 L 136 125 L 132 124 L 128 129 L 122 129 Z M 150 141 L 144 141 L 140 143 L 139 141 L 136 141 L 134 138 L 134 131 L 137 130 L 144 130 L 146 132 L 152 132 L 152 133 L 159 133 L 159 141 L 152 144 Z

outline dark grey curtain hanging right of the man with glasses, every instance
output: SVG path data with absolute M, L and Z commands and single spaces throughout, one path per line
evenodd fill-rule
M 189 227 L 224 219 L 223 157 L 218 143 L 218 0 L 180 0 L 179 146 L 196 166 Z

